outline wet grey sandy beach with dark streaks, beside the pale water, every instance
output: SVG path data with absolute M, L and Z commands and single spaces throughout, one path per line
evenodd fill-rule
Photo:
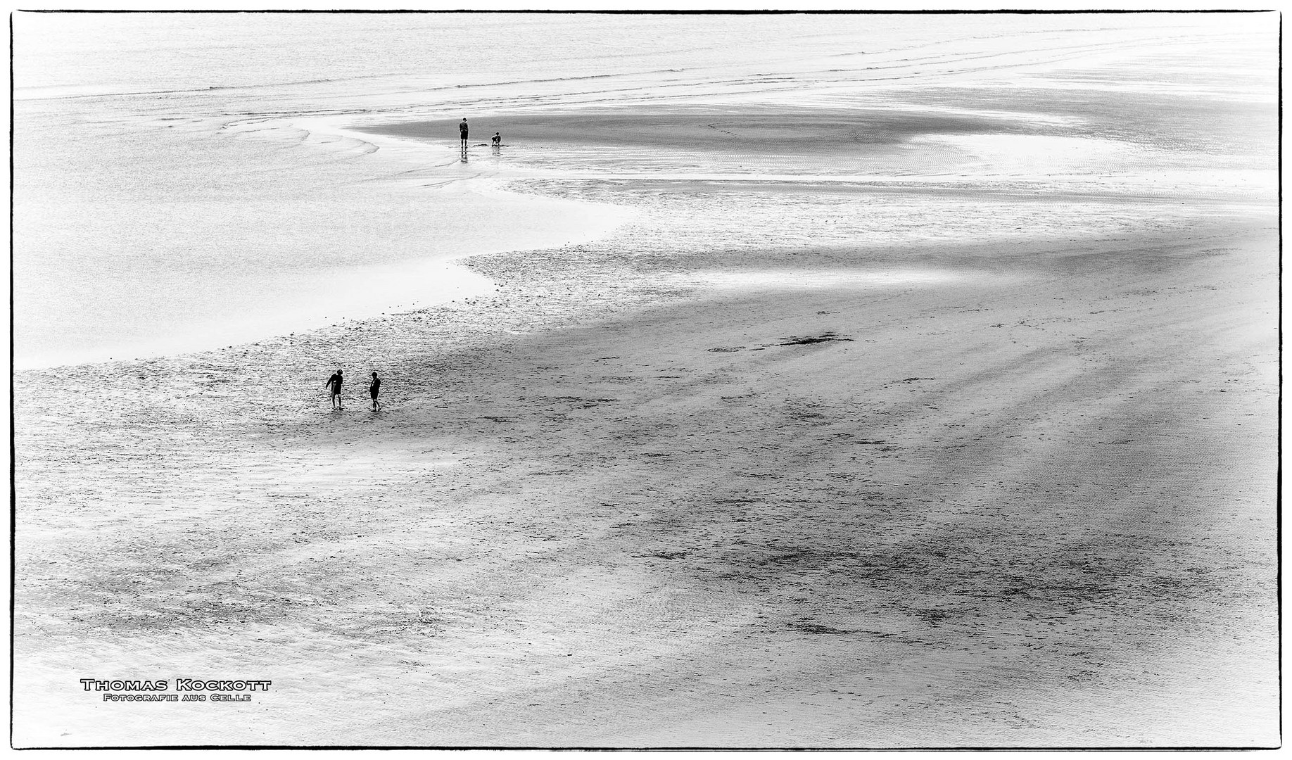
M 510 190 L 630 221 L 465 259 L 469 300 L 19 372 L 14 744 L 1276 746 L 1274 111 L 1109 96 L 1081 150 L 1248 153 L 1036 182 L 992 136 L 1072 132 L 952 96 L 512 115 Z

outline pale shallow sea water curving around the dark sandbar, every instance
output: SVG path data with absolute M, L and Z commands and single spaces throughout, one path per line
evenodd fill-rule
M 1271 173 L 1267 150 L 1235 163 L 1222 145 L 1221 160 L 1199 164 L 1217 155 L 1216 136 L 1146 142 L 1109 127 L 1116 105 L 1109 119 L 1098 103 L 1036 92 L 1187 90 L 1227 103 L 1227 129 L 1252 107 L 1273 112 L 1264 65 L 1275 43 L 1269 14 L 19 13 L 16 364 L 218 348 L 415 309 L 491 287 L 452 257 L 585 240 L 628 217 L 503 193 L 510 177 Z M 974 88 L 1019 97 L 991 103 Z M 983 107 L 948 110 L 961 96 Z M 870 109 L 915 128 L 849 160 L 749 145 L 733 168 L 721 149 L 589 149 L 570 143 L 576 131 L 536 134 L 504 160 L 473 149 L 463 163 L 448 127 L 469 114 L 483 140 L 526 114 L 665 105 Z M 990 131 L 947 134 L 950 118 L 1068 136 L 1034 136 L 1019 153 Z M 382 142 L 341 129 L 429 119 L 448 134 Z

